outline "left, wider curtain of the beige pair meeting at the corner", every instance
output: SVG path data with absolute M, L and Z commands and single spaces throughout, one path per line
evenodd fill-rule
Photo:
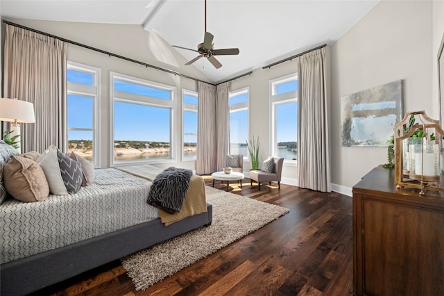
M 216 172 L 216 86 L 198 81 L 196 174 Z

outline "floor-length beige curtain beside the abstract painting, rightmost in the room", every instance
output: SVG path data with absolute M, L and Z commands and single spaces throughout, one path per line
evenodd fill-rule
M 298 66 L 299 187 L 331 192 L 325 47 L 300 56 Z

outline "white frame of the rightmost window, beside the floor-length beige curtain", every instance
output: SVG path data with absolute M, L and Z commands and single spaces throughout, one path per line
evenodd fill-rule
M 278 78 L 272 79 L 269 81 L 269 91 L 270 91 L 270 151 L 271 155 L 278 155 L 278 151 L 276 151 L 278 147 L 277 142 L 277 108 L 276 106 L 281 104 L 298 102 L 298 90 L 293 90 L 291 92 L 284 92 L 282 94 L 277 94 L 278 85 L 282 85 L 284 83 L 288 83 L 289 81 L 298 81 L 298 73 L 292 73 L 285 76 L 280 76 Z M 298 142 L 296 140 L 296 142 Z M 284 165 L 286 166 L 296 166 L 298 165 L 298 161 L 293 161 L 289 159 L 284 159 Z

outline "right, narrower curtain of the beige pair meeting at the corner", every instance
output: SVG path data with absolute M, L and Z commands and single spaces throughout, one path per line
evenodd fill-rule
M 230 83 L 225 82 L 216 88 L 216 170 L 226 166 L 228 154 L 228 89 Z

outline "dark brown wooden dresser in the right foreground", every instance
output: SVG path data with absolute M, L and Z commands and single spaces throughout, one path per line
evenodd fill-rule
M 355 295 L 444 295 L 444 192 L 396 189 L 375 167 L 353 187 Z

